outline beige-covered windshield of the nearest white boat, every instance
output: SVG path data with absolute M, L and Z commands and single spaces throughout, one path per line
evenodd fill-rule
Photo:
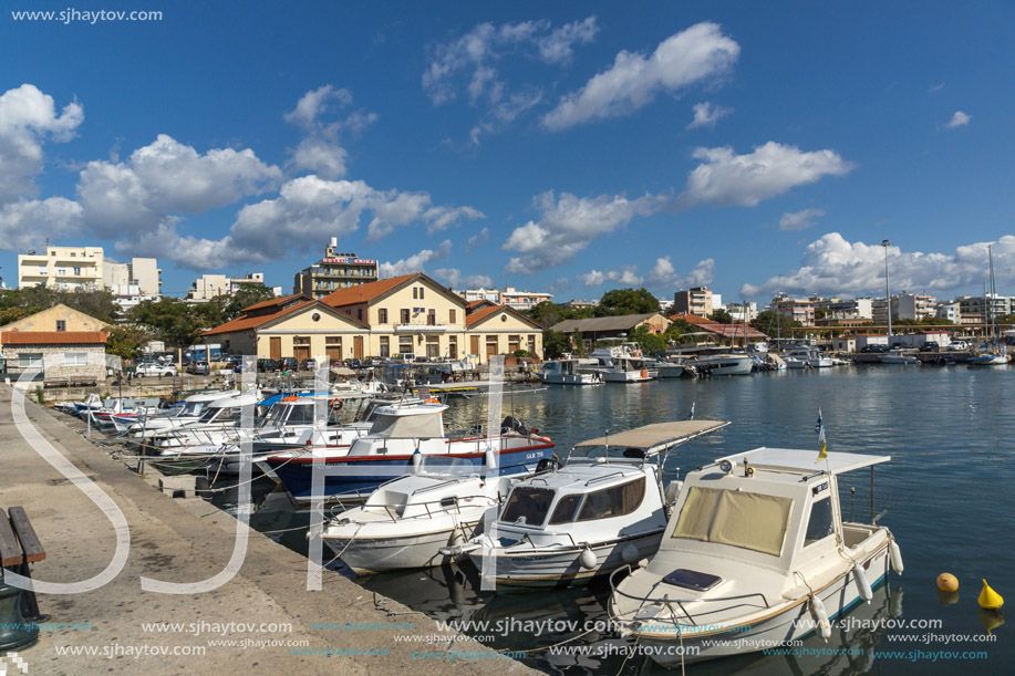
M 793 498 L 692 486 L 671 537 L 778 557 L 791 510 Z

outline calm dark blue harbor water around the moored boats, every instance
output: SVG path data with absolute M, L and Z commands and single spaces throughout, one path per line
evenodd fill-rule
M 692 674 L 977 674 L 1015 670 L 1012 628 L 993 630 L 996 642 L 983 642 L 984 620 L 976 604 L 981 579 L 1002 595 L 1015 599 L 1015 491 L 1012 490 L 1015 416 L 1008 393 L 1015 367 L 842 366 L 700 381 L 605 384 L 584 388 L 551 387 L 535 395 L 506 396 L 504 413 L 514 413 L 557 441 L 558 455 L 579 440 L 604 430 L 620 431 L 648 423 L 695 417 L 731 420 L 721 434 L 677 449 L 666 462 L 667 479 L 721 455 L 760 446 L 814 448 L 820 406 L 829 453 L 891 455 L 876 470 L 876 510 L 887 510 L 880 523 L 898 538 L 905 563 L 876 590 L 870 605 L 849 617 L 874 621 L 874 627 L 851 623 L 836 630 L 826 645 L 805 639 L 808 651 L 824 655 L 759 654 L 688 665 Z M 478 399 L 453 403 L 449 426 L 486 420 Z M 869 472 L 840 478 L 842 511 L 870 519 Z M 849 498 L 856 487 L 855 506 Z M 279 501 L 280 502 L 280 501 Z M 305 523 L 305 513 L 272 507 L 255 514 L 262 531 Z M 273 534 L 305 552 L 303 531 Z M 957 602 L 943 605 L 934 583 L 941 572 L 960 581 Z M 350 573 L 351 575 L 351 573 Z M 485 639 L 494 649 L 547 648 L 579 632 L 524 632 L 510 620 L 563 620 L 577 626 L 605 621 L 608 589 L 496 594 L 479 592 L 470 566 L 444 566 L 374 575 L 358 582 L 412 609 L 445 621 L 488 620 L 506 631 Z M 322 593 L 327 593 L 322 592 Z M 504 621 L 496 624 L 496 621 Z M 933 628 L 885 626 L 895 621 L 941 621 Z M 870 624 L 870 623 L 868 623 Z M 562 625 L 561 625 L 562 626 Z M 500 635 L 504 634 L 504 635 Z M 928 637 L 926 634 L 933 634 Z M 964 636 L 964 637 L 963 637 Z M 947 638 L 945 638 L 947 637 Z M 946 642 L 947 641 L 947 642 Z M 592 654 L 550 654 L 540 649 L 527 662 L 560 674 L 654 674 L 664 669 L 643 655 L 625 657 L 631 644 L 592 633 L 570 645 L 591 646 Z M 444 649 L 446 646 L 432 646 Z M 830 654 L 831 651 L 840 651 Z M 846 652 L 852 654 L 845 654 Z M 898 652 L 876 657 L 872 651 Z M 916 653 L 916 652 L 922 652 Z M 986 658 L 962 658 L 966 651 L 985 651 Z M 946 654 L 951 653 L 951 654 Z

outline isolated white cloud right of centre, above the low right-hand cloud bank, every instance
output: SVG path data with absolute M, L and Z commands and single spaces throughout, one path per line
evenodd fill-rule
M 747 155 L 734 155 L 733 148 L 726 146 L 697 148 L 694 157 L 705 162 L 687 176 L 686 189 L 680 197 L 683 206 L 712 202 L 754 207 L 824 176 L 843 176 L 855 166 L 832 150 L 801 153 L 774 141 Z

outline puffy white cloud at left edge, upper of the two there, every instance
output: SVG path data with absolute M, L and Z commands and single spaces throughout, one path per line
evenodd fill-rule
M 53 97 L 31 84 L 0 95 L 0 205 L 35 196 L 43 138 L 70 141 L 83 121 L 81 104 L 69 103 L 58 115 Z

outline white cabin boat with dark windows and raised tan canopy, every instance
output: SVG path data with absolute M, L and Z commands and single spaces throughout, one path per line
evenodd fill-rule
M 446 553 L 469 555 L 498 587 L 584 584 L 634 563 L 659 547 L 680 486 L 664 490 L 663 462 L 649 460 L 727 424 L 656 423 L 582 441 L 590 455 L 516 483 L 491 528 Z

